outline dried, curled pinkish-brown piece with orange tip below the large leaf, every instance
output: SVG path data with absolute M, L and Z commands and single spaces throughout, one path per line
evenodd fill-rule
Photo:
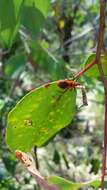
M 19 150 L 16 151 L 16 157 L 22 162 L 28 172 L 36 179 L 37 183 L 46 190 L 59 190 L 58 187 L 50 185 L 47 180 L 41 176 L 39 171 L 33 166 L 32 161 L 28 155 Z

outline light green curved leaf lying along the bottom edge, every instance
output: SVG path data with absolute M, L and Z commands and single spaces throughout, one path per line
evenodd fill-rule
M 58 176 L 50 176 L 47 178 L 48 182 L 50 184 L 56 185 L 59 187 L 59 189 L 61 190 L 79 190 L 82 187 L 85 186 L 93 186 L 95 188 L 98 188 L 100 186 L 100 179 L 96 179 L 93 181 L 88 181 L 88 182 L 84 182 L 84 183 L 74 183 L 72 181 L 66 180 L 62 177 L 58 177 Z

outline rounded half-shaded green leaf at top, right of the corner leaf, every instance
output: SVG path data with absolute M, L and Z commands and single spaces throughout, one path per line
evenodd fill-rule
M 32 35 L 38 35 L 45 23 L 49 7 L 50 0 L 25 0 L 21 15 L 21 24 Z

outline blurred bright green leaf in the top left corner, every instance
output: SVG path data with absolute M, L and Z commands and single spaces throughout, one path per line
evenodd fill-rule
M 0 44 L 9 48 L 18 32 L 22 0 L 0 0 Z

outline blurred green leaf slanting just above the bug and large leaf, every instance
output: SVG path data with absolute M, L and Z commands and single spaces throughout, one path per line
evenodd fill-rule
M 66 77 L 64 69 L 65 62 L 58 60 L 46 48 L 43 48 L 39 43 L 31 43 L 32 57 L 35 63 L 40 65 L 47 71 L 52 80 L 58 80 Z

